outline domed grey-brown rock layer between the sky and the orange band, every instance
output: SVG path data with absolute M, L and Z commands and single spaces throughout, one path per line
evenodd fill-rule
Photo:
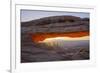
M 89 21 L 74 16 L 53 16 L 22 22 L 22 33 L 89 31 Z

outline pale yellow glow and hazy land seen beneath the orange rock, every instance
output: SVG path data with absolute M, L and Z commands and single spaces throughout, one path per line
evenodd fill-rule
M 88 40 L 89 40 L 89 36 L 77 37 L 77 38 L 53 37 L 53 38 L 46 38 L 43 41 L 38 41 L 38 43 L 45 44 L 46 46 L 49 47 L 65 47 L 65 46 L 68 47 L 68 46 L 82 44 L 82 41 L 84 43 L 84 41 L 87 42 Z

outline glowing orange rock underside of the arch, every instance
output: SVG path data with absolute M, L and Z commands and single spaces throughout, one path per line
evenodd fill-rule
M 46 38 L 54 37 L 83 37 L 89 36 L 89 32 L 71 32 L 71 33 L 37 33 L 32 35 L 32 40 L 34 42 L 43 41 Z

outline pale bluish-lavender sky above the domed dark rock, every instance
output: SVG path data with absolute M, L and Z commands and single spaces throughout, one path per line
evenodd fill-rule
M 81 18 L 89 18 L 89 13 L 86 12 L 65 12 L 65 11 L 40 11 L 40 10 L 21 10 L 21 22 L 31 21 L 43 17 L 71 15 Z

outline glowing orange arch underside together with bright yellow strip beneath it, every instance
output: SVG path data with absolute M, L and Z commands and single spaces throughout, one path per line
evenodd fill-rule
M 88 39 L 89 32 L 70 32 L 70 33 L 37 33 L 32 34 L 34 42 L 47 40 L 81 40 Z

